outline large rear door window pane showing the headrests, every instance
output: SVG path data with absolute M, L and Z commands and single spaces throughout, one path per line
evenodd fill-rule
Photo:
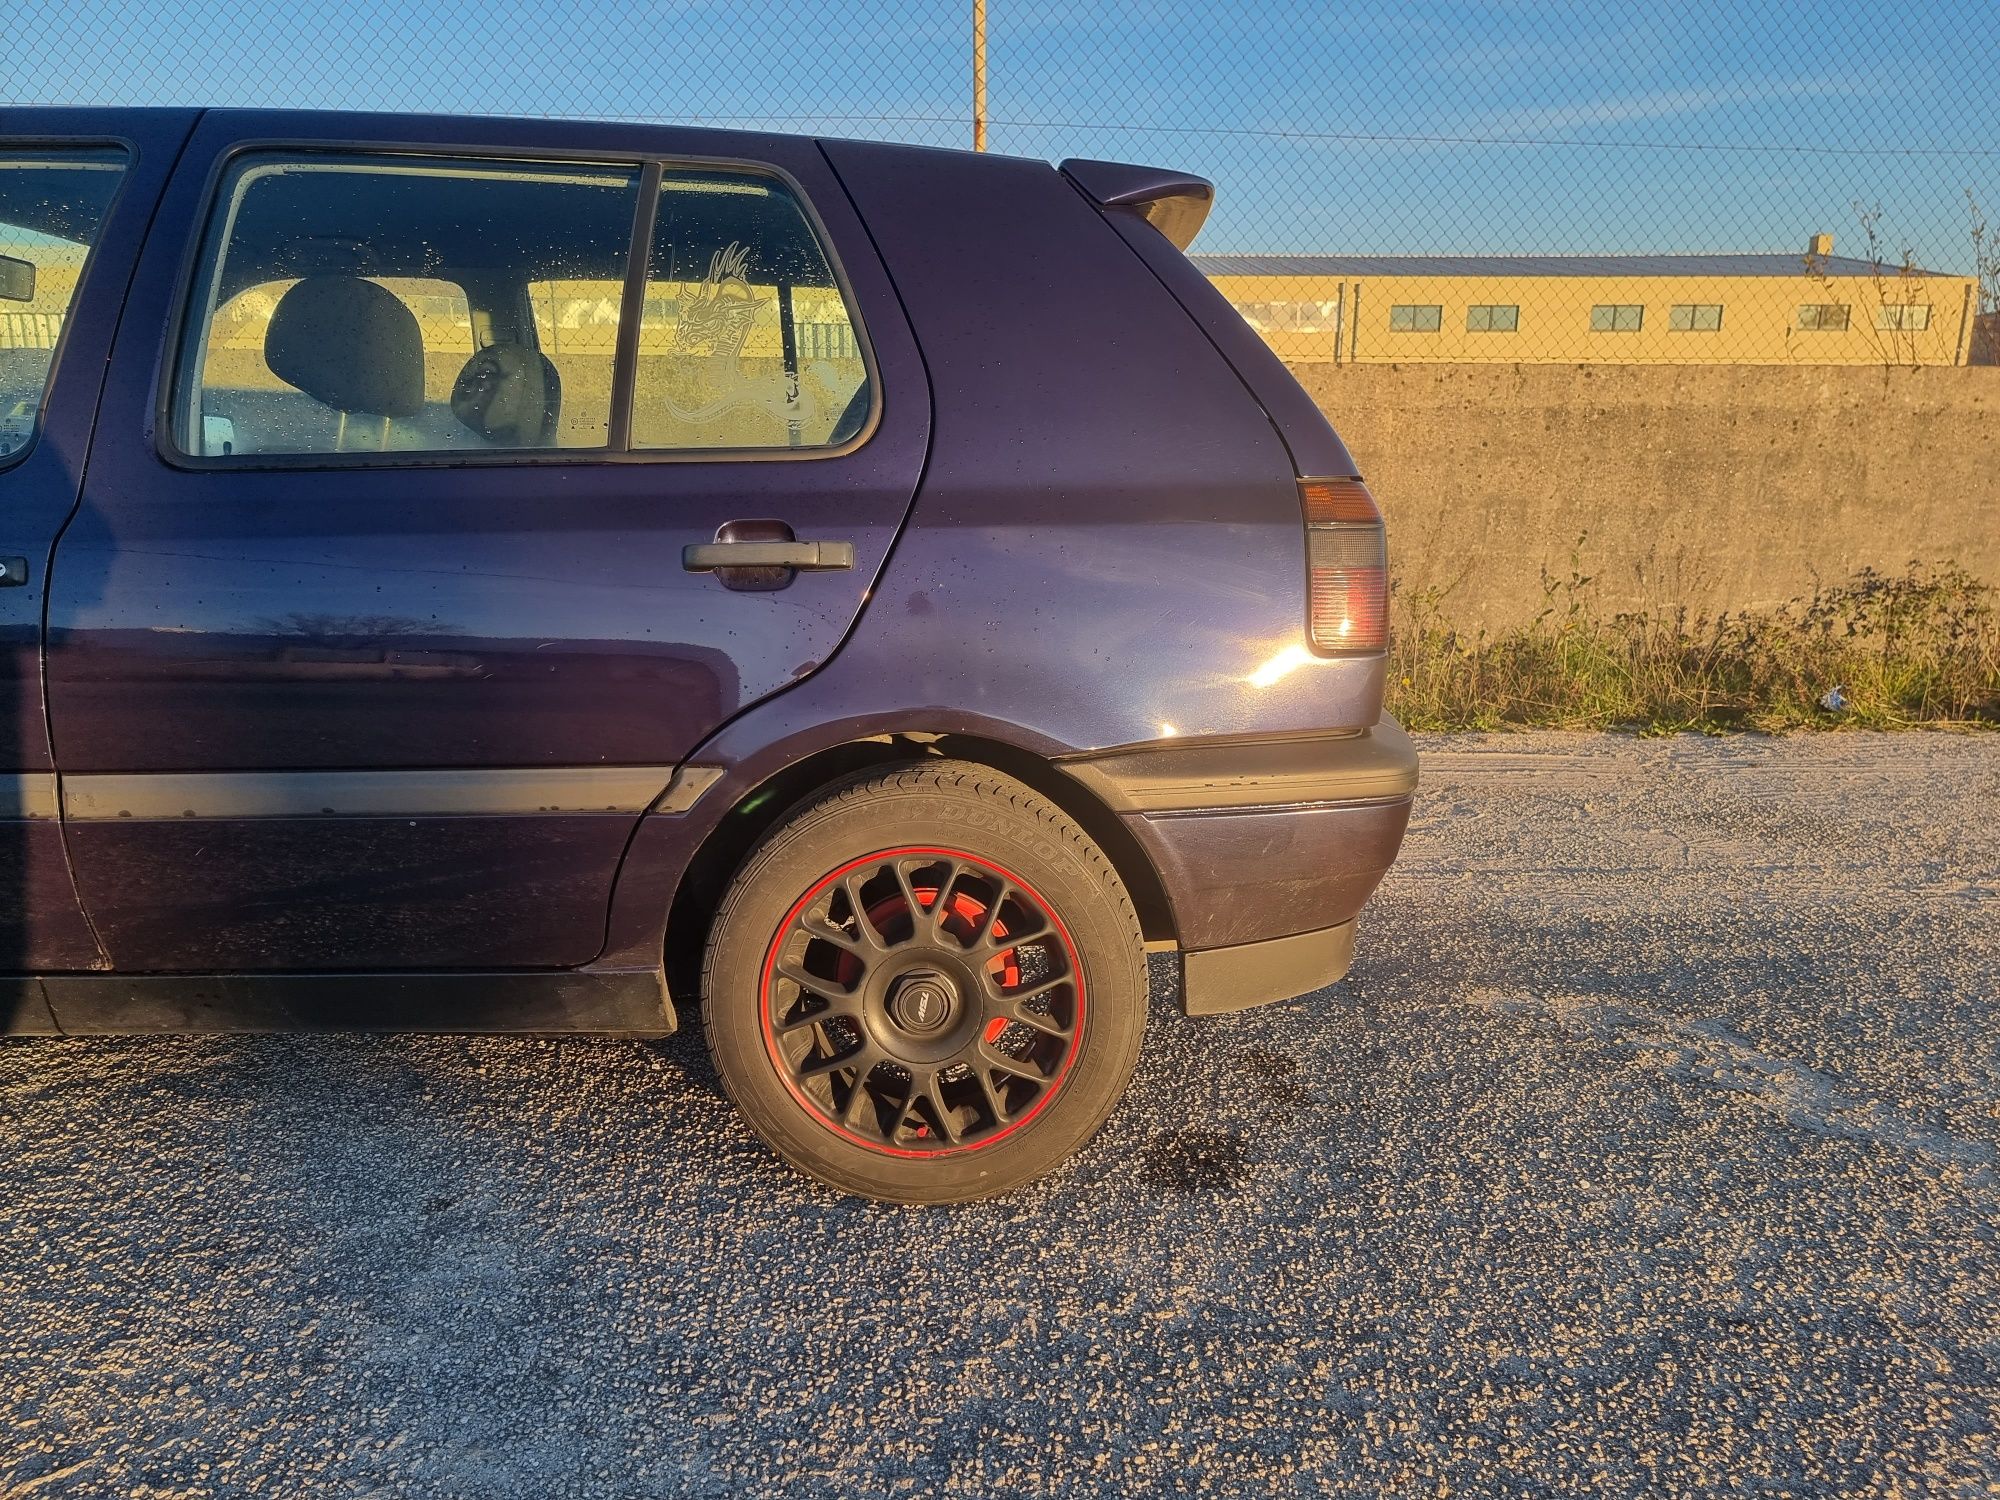
M 620 284 L 638 180 L 238 160 L 184 334 L 176 444 L 198 458 L 604 448 L 618 300 L 608 336 L 564 346 L 566 288 Z

